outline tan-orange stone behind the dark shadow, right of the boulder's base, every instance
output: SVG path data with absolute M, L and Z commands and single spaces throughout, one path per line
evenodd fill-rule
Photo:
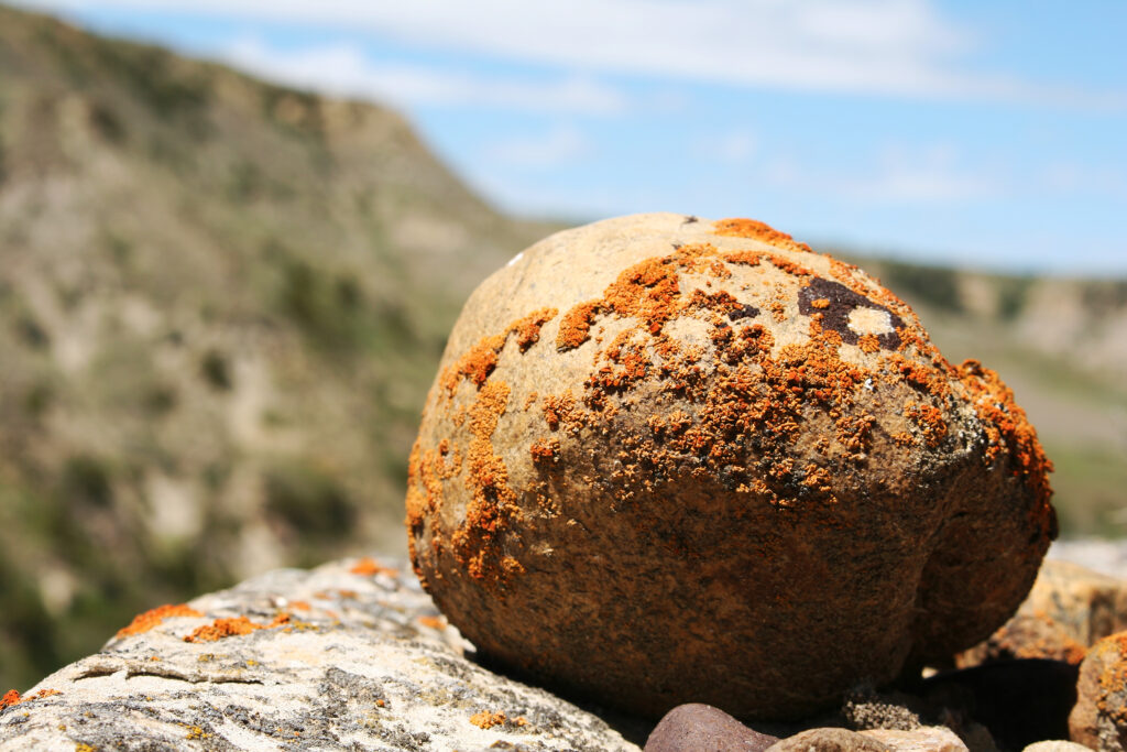
M 1083 549 L 1071 549 L 1082 552 Z M 1018 612 L 986 640 L 956 656 L 969 667 L 1009 658 L 1079 664 L 1099 639 L 1127 629 L 1127 580 L 1046 559 Z

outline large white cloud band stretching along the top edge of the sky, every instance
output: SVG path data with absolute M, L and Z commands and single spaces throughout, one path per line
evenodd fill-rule
M 965 70 L 978 39 L 932 0 L 95 0 L 121 9 L 190 10 L 378 33 L 589 74 L 642 73 L 742 86 L 944 98 L 1127 106 Z M 25 5 L 89 9 L 87 0 Z M 578 95 L 573 95 L 578 96 Z

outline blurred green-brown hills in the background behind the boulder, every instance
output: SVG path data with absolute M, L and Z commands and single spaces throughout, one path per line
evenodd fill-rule
M 0 690 L 152 605 L 400 550 L 453 318 L 559 227 L 382 107 L 0 7 Z M 1122 534 L 1127 282 L 863 265 L 1014 387 L 1066 532 Z

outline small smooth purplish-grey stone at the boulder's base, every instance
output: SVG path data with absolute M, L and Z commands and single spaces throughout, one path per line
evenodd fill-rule
M 762 752 L 779 740 L 711 705 L 678 705 L 658 722 L 645 752 Z

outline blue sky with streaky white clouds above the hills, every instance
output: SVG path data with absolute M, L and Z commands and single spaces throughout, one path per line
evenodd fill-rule
M 488 201 L 1127 276 L 1122 0 L 21 0 L 390 105 Z

